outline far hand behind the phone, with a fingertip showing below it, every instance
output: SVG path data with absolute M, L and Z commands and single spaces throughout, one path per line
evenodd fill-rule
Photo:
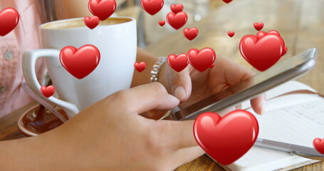
M 214 67 L 203 72 L 188 65 L 178 73 L 165 63 L 160 71 L 159 82 L 181 101 L 181 106 L 187 106 L 253 75 L 252 71 L 239 63 L 217 57 Z M 264 105 L 265 95 L 251 100 L 251 106 L 258 114 L 262 113 Z

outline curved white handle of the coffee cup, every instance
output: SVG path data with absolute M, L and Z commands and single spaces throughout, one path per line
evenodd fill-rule
M 38 83 L 35 72 L 36 59 L 45 57 L 45 58 L 55 58 L 58 59 L 60 51 L 56 49 L 37 49 L 32 51 L 26 51 L 23 53 L 23 76 L 25 77 L 26 83 L 29 88 L 33 90 L 36 95 L 41 97 L 43 100 L 46 100 L 48 103 L 54 103 L 61 108 L 63 108 L 66 113 L 68 113 L 68 118 L 72 118 L 74 115 L 79 113 L 78 108 L 73 103 L 68 103 L 66 101 L 60 100 L 56 97 L 46 98 L 41 93 L 41 85 Z

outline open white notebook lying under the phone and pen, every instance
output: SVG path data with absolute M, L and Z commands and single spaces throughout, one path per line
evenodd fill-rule
M 276 140 L 296 145 L 313 147 L 314 138 L 324 138 L 324 98 L 315 94 L 291 94 L 274 98 L 293 90 L 313 88 L 297 81 L 268 90 L 266 110 L 263 115 L 256 115 L 249 108 L 249 101 L 242 103 L 242 108 L 254 113 L 259 124 L 258 138 Z M 318 160 L 291 155 L 261 147 L 252 147 L 239 160 L 224 166 L 226 170 L 291 170 L 310 165 Z

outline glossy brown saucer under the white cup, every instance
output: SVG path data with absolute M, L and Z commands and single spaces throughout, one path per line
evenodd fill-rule
M 64 110 L 58 107 L 56 107 L 56 110 L 68 119 Z M 56 115 L 39 104 L 28 109 L 18 120 L 19 130 L 27 136 L 36 136 L 45 133 L 62 124 L 63 122 Z

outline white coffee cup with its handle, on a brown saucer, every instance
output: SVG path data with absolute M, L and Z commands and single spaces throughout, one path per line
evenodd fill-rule
M 69 118 L 117 90 L 130 88 L 137 51 L 135 19 L 110 17 L 93 29 L 83 24 L 83 18 L 66 19 L 39 28 L 43 49 L 23 53 L 23 75 L 34 93 L 63 108 Z M 100 62 L 88 76 L 78 79 L 63 68 L 59 54 L 66 46 L 80 48 L 86 44 L 98 48 Z M 46 98 L 40 91 L 35 62 L 41 57 L 59 98 Z

